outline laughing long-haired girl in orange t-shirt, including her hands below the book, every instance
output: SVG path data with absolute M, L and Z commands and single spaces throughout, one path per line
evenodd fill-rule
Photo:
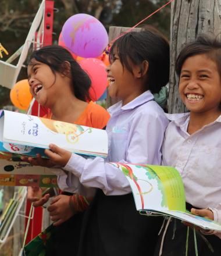
M 46 118 L 57 120 L 57 124 L 63 121 L 99 129 L 106 126 L 109 113 L 90 101 L 90 77 L 65 48 L 52 45 L 34 51 L 30 56 L 27 73 L 31 94 L 40 105 L 51 110 Z M 55 246 L 50 248 L 50 253 L 74 255 L 78 248 L 79 233 L 76 231 L 74 236 L 73 229 L 79 231 L 81 228 L 83 215 L 79 212 L 87 208 L 87 204 L 84 197 L 71 196 L 72 189 L 66 186 L 65 173 L 60 170 L 59 174 L 58 182 L 63 193 L 54 197 L 48 207 L 49 215 L 56 226 Z M 93 195 L 92 190 L 88 191 L 85 195 L 86 201 Z M 28 187 L 28 199 L 35 207 L 48 201 L 49 194 L 41 196 L 40 188 Z

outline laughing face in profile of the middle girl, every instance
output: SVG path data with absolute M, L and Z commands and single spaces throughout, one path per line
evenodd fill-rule
M 126 66 L 123 67 L 115 51 L 107 69 L 110 97 L 122 99 L 123 105 L 125 105 L 143 92 L 136 78 L 137 68 L 137 66 L 132 65 L 133 73 L 131 73 Z

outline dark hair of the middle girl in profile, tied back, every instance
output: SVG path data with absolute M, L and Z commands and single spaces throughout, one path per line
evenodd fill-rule
M 169 81 L 170 54 L 169 43 L 157 30 L 133 31 L 122 35 L 110 48 L 109 59 L 117 53 L 123 67 L 131 73 L 134 65 L 148 61 L 146 90 L 159 93 Z M 141 71 L 142 72 L 142 71 Z

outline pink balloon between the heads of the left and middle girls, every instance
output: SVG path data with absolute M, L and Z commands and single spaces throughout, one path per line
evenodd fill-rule
M 99 59 L 86 58 L 79 61 L 80 66 L 88 73 L 91 79 L 90 96 L 97 101 L 108 85 L 106 66 Z

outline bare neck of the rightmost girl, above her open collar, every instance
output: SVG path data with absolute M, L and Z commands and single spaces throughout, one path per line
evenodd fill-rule
M 211 112 L 206 112 L 204 114 L 190 112 L 190 122 L 187 129 L 188 133 L 193 134 L 205 125 L 214 122 L 220 114 L 220 111 L 213 114 L 211 114 Z

